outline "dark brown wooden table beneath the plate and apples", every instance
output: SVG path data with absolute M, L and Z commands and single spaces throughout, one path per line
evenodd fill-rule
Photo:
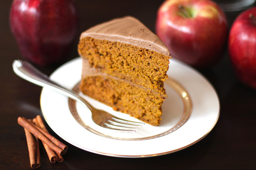
M 94 24 L 132 15 L 153 32 L 156 11 L 163 0 L 80 0 L 80 32 Z M 18 116 L 34 118 L 41 115 L 39 86 L 26 82 L 12 71 L 12 61 L 22 58 L 10 32 L 11 1 L 0 2 L 0 170 L 31 169 L 24 130 Z M 239 12 L 226 12 L 229 26 Z M 76 40 L 76 43 L 78 39 Z M 74 46 L 70 59 L 77 57 Z M 40 67 L 50 75 L 58 66 Z M 256 169 L 256 90 L 241 84 L 230 64 L 227 50 L 213 68 L 199 70 L 212 83 L 220 99 L 220 118 L 214 129 L 198 143 L 175 153 L 150 158 L 115 158 L 81 150 L 62 140 L 50 128 L 50 133 L 67 144 L 64 162 L 52 164 L 41 149 L 43 170 L 87 169 Z M 41 144 L 42 145 L 42 144 Z M 158 145 L 158 144 L 156 144 Z M 160 144 L 159 144 L 160 145 Z M 125 147 L 125 146 L 124 146 Z M 41 147 L 42 148 L 42 147 Z

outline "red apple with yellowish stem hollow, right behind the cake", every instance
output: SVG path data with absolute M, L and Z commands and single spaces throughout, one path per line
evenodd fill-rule
M 222 56 L 228 23 L 210 0 L 166 0 L 158 9 L 156 34 L 174 58 L 206 68 Z

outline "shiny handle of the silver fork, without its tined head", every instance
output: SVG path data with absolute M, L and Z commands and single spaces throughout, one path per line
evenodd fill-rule
M 12 63 L 12 69 L 19 77 L 36 84 L 41 87 L 49 87 L 61 94 L 64 94 L 74 100 L 79 101 L 80 103 L 86 105 L 90 110 L 94 109 L 94 107 L 89 104 L 86 100 L 80 97 L 76 92 L 73 90 L 69 90 L 57 82 L 51 80 L 48 76 L 40 72 L 37 68 L 32 66 L 29 62 L 23 60 L 14 60 Z

